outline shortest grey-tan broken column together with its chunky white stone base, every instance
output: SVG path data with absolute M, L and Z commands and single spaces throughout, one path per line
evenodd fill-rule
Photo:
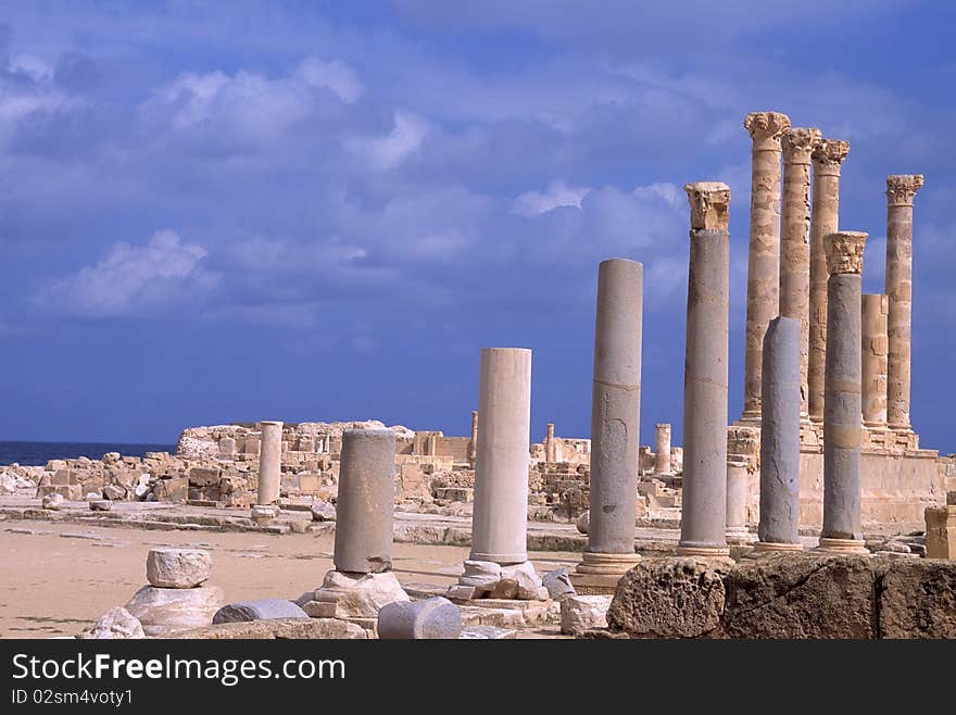
M 310 616 L 377 618 L 386 603 L 408 600 L 391 570 L 394 472 L 391 429 L 342 432 L 336 567 L 303 605 Z

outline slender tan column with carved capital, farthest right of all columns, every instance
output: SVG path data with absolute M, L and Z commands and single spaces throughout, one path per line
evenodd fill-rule
M 890 299 L 890 361 L 886 421 L 911 431 L 909 423 L 910 319 L 913 311 L 913 200 L 921 174 L 886 177 L 886 296 Z

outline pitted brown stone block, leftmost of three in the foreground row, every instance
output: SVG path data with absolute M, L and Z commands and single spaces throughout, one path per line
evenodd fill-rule
M 631 638 L 706 638 L 720 629 L 730 559 L 645 559 L 618 581 L 607 625 Z

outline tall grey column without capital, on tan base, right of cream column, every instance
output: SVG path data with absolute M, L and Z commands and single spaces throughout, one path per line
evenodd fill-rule
M 591 515 L 575 587 L 613 592 L 638 563 L 634 527 L 641 427 L 644 266 L 611 259 L 598 268 L 591 392 Z

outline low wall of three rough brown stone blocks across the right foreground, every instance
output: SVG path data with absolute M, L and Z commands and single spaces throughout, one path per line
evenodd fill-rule
M 956 562 L 767 554 L 645 559 L 620 579 L 613 638 L 956 638 Z

